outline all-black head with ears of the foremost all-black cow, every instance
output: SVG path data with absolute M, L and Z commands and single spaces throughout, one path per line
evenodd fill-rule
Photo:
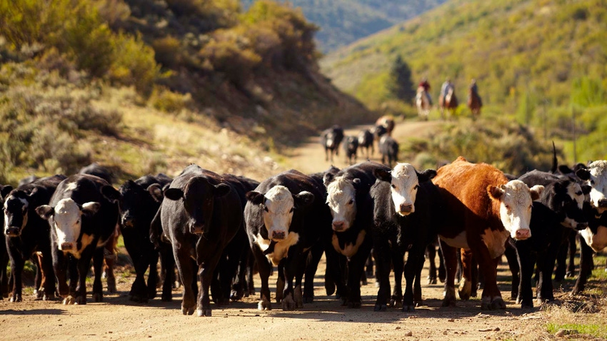
M 230 186 L 225 183 L 214 185 L 204 176 L 191 178 L 184 190 L 181 188 L 166 188 L 164 198 L 184 201 L 184 208 L 189 215 L 189 231 L 204 235 L 209 233 L 215 199 L 230 193 Z

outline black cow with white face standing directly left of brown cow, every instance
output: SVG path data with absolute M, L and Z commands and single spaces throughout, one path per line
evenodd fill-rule
M 441 215 L 441 200 L 438 188 L 431 182 L 436 170 L 420 173 L 408 163 L 398 163 L 391 171 L 376 170 L 375 175 L 381 180 L 371 188 L 373 251 L 379 275 L 375 310 L 386 310 L 388 305 L 392 263 L 393 305 L 401 306 L 403 311 L 414 311 L 415 306 L 421 304 L 421 269 L 426 246 L 438 240 L 436 226 Z M 406 265 L 405 253 L 408 253 Z M 401 288 L 403 270 L 404 296 Z

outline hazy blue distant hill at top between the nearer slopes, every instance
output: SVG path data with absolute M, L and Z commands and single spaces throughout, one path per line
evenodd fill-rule
M 242 0 L 245 7 L 255 0 Z M 333 51 L 358 39 L 428 11 L 446 0 L 291 0 L 320 30 L 316 34 L 323 52 Z

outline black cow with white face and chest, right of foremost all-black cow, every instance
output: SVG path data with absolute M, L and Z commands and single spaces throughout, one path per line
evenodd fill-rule
M 289 170 L 262 181 L 246 198 L 246 230 L 261 278 L 259 310 L 272 308 L 271 264 L 279 267 L 276 302 L 283 310 L 302 307 L 301 280 L 308 253 L 321 242 L 323 225 L 331 223 L 323 188 L 310 176 Z

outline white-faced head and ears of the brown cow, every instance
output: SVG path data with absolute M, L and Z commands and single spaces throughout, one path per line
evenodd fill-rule
M 531 204 L 542 191 L 542 185 L 529 189 L 521 180 L 511 180 L 501 186 L 487 186 L 489 198 L 499 205 L 501 223 L 512 238 L 525 240 L 531 237 Z

